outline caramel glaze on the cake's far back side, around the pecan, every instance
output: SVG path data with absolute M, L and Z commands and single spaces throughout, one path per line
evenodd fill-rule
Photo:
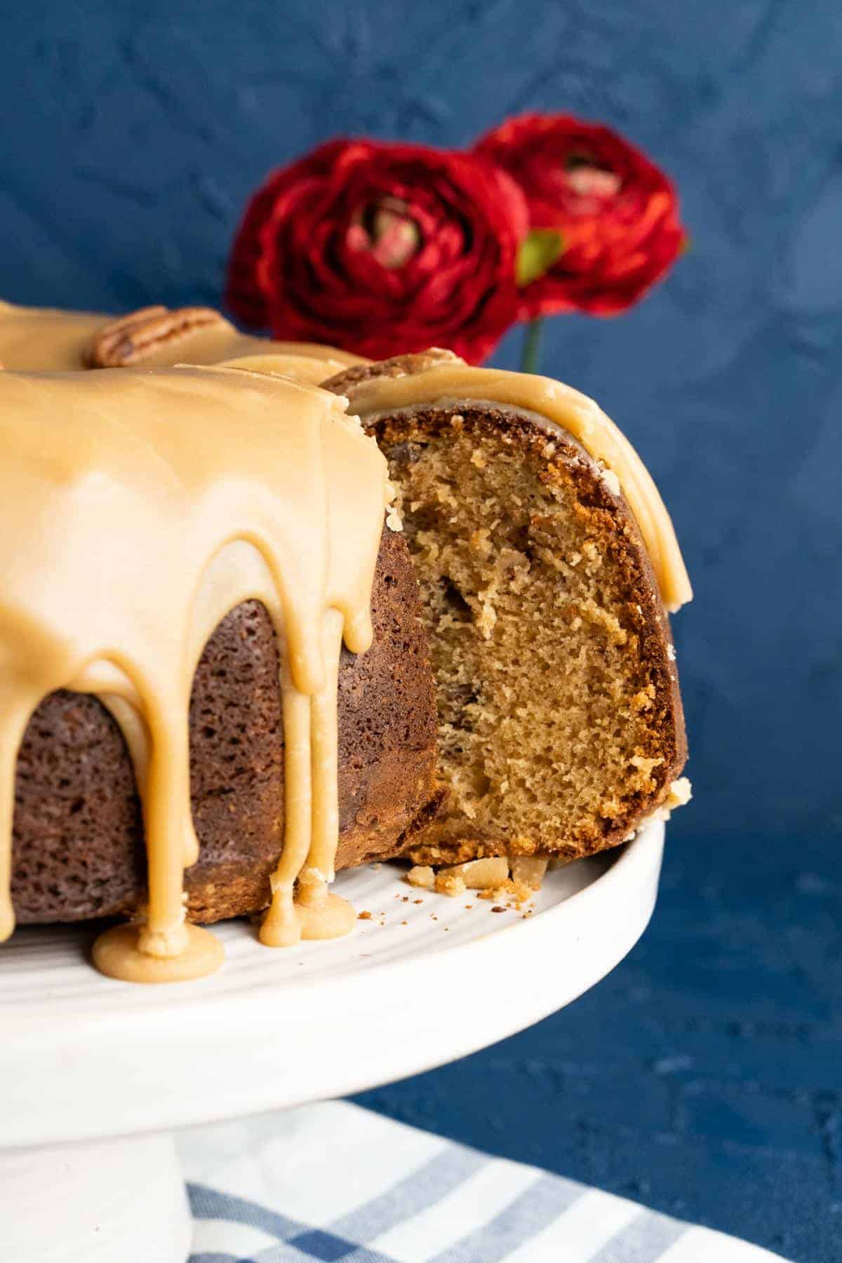
M 164 308 L 149 308 L 154 313 Z M 188 309 L 189 311 L 189 309 Z M 143 316 L 144 313 L 138 313 Z M 318 385 L 343 368 L 364 362 L 357 355 L 316 342 L 274 342 L 251 337 L 218 313 L 210 322 L 196 327 L 186 325 L 170 333 L 160 345 L 143 351 L 144 368 L 172 368 L 174 364 L 220 364 L 244 356 L 278 356 L 273 371 L 285 373 L 298 381 Z M 134 317 L 126 317 L 131 320 Z M 16 307 L 0 302 L 0 365 L 24 371 L 69 371 L 88 368 L 87 350 L 91 340 L 109 326 L 114 317 L 90 312 L 66 312 L 49 307 Z M 135 361 L 136 362 L 136 361 Z M 249 368 L 259 369 L 252 361 Z

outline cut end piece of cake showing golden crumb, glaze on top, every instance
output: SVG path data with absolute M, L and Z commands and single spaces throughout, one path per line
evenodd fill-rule
M 415 864 L 571 860 L 684 801 L 667 610 L 692 594 L 612 422 L 558 383 L 447 351 L 326 386 L 389 461 L 422 590 L 448 798 L 413 836 Z

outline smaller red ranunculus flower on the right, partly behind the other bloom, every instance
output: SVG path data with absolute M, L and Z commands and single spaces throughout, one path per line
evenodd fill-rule
M 482 136 L 475 153 L 507 171 L 526 196 L 535 255 L 530 263 L 525 248 L 521 256 L 525 318 L 625 311 L 682 249 L 672 183 L 610 128 L 524 114 Z

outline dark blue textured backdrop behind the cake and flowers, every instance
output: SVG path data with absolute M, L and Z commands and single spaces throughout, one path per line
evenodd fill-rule
M 0 292 L 21 302 L 218 302 L 249 189 L 336 133 L 462 144 L 564 109 L 674 176 L 689 256 L 635 312 L 559 318 L 544 345 L 648 460 L 696 584 L 675 632 L 697 797 L 659 911 L 571 1009 L 366 1100 L 842 1258 L 838 4 L 4 10 Z

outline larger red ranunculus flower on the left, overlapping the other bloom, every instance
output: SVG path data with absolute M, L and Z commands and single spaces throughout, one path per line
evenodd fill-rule
M 518 318 L 525 200 L 486 159 L 333 140 L 274 172 L 234 242 L 227 301 L 275 337 L 375 359 L 478 361 Z

